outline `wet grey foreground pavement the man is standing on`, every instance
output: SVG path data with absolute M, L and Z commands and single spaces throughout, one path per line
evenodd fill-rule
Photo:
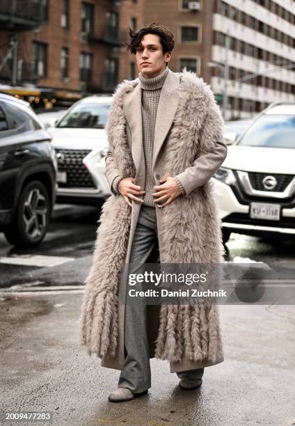
M 294 306 L 220 306 L 225 361 L 200 389 L 181 390 L 152 359 L 149 394 L 112 404 L 119 372 L 79 346 L 82 298 L 79 288 L 0 294 L 0 411 L 51 411 L 54 426 L 295 425 Z

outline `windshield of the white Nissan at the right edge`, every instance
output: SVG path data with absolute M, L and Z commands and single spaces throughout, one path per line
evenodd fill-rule
M 239 145 L 295 148 L 295 116 L 260 116 L 240 139 Z

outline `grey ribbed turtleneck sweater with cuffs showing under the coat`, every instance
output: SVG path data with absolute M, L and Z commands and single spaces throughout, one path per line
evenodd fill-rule
M 159 98 L 161 95 L 161 88 L 164 85 L 166 77 L 168 75 L 168 67 L 157 75 L 147 79 L 143 77 L 141 72 L 138 74 L 138 78 L 141 81 L 142 96 L 141 96 L 141 115 L 143 123 L 143 150 L 145 154 L 145 195 L 143 197 L 143 204 L 150 207 L 154 207 L 154 176 L 152 173 L 152 152 L 154 147 L 154 127 L 157 118 L 157 109 L 159 104 Z M 118 192 L 118 183 L 122 178 L 118 176 L 113 180 L 113 191 Z M 184 189 L 179 180 L 177 183 L 180 185 L 182 194 Z

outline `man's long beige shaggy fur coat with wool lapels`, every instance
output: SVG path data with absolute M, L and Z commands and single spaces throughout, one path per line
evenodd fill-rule
M 124 81 L 113 97 L 106 126 L 106 176 L 110 184 L 115 175 L 135 177 L 134 183 L 144 183 L 140 122 L 140 82 Z M 154 176 L 183 175 L 186 195 L 163 209 L 157 208 L 162 263 L 222 261 L 221 223 L 209 179 L 225 156 L 223 118 L 212 90 L 196 74 L 169 70 L 157 113 Z M 102 365 L 111 368 L 121 369 L 124 363 L 124 306 L 118 294 L 139 210 L 140 205 L 133 202 L 131 208 L 120 195 L 106 200 L 93 265 L 86 279 L 81 344 L 88 354 L 96 354 L 102 358 Z M 161 306 L 152 356 L 170 361 L 171 371 L 223 361 L 217 308 L 213 303 Z

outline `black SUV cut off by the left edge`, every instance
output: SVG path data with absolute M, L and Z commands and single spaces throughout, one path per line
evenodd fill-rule
M 51 136 L 28 102 L 0 93 L 0 232 L 10 244 L 45 237 L 56 198 Z

